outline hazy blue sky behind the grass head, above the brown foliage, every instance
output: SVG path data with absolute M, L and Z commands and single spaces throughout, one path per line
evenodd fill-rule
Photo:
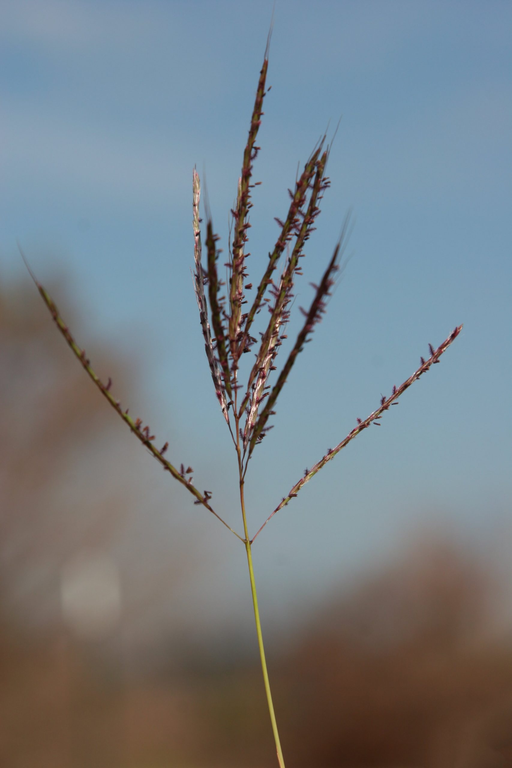
M 237 525 L 235 456 L 190 278 L 191 176 L 194 164 L 206 173 L 226 247 L 272 10 L 2 0 L 0 25 L 2 280 L 23 277 L 17 238 L 41 282 L 67 276 L 55 300 L 74 307 L 79 342 L 93 362 L 95 339 L 140 359 L 137 409 Z M 276 3 L 253 281 L 297 163 L 340 116 L 298 304 L 349 207 L 355 230 L 329 313 L 253 460 L 250 528 L 429 342 L 464 331 L 381 429 L 276 515 L 255 554 L 269 604 L 299 588 L 314 596 L 416 529 L 510 541 L 510 22 L 504 2 Z M 162 515 L 175 508 L 200 517 L 179 488 Z M 236 541 L 204 525 L 229 561 Z

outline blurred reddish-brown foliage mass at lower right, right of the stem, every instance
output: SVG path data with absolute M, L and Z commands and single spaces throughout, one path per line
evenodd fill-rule
M 292 664 L 298 765 L 512 765 L 512 654 L 483 563 L 442 541 L 332 601 Z M 290 674 L 292 667 L 290 669 Z M 342 758 L 341 758 L 342 756 Z

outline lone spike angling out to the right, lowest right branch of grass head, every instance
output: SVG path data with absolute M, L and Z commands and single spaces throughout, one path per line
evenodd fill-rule
M 276 512 L 279 512 L 279 509 L 282 509 L 292 498 L 295 498 L 300 489 L 306 485 L 306 482 L 311 480 L 313 475 L 316 475 L 316 473 L 319 472 L 319 470 L 322 469 L 322 467 L 325 466 L 327 462 L 330 462 L 331 459 L 334 458 L 335 455 L 342 450 L 342 448 L 345 448 L 345 445 L 348 445 L 351 440 L 358 436 L 359 432 L 362 432 L 363 429 L 366 429 L 369 425 L 372 424 L 372 422 L 379 425 L 380 422 L 378 422 L 378 419 L 382 417 L 382 414 L 389 409 L 389 406 L 395 405 L 395 401 L 401 396 L 401 394 L 403 394 L 403 392 L 405 392 L 406 389 L 411 386 L 412 383 L 417 381 L 420 376 L 422 376 L 425 372 L 428 371 L 428 369 L 430 369 L 432 365 L 434 365 L 436 362 L 439 362 L 439 358 L 448 349 L 451 343 L 457 339 L 457 336 L 459 333 L 461 333 L 461 329 L 462 326 L 457 326 L 457 328 L 454 329 L 450 336 L 448 336 L 448 339 L 444 339 L 444 342 L 438 346 L 438 349 L 434 349 L 431 345 L 429 345 L 431 356 L 427 360 L 421 358 L 421 366 L 418 368 L 418 370 L 415 371 L 412 376 L 409 376 L 409 378 L 401 386 L 399 386 L 398 389 L 394 386 L 393 391 L 391 392 L 391 396 L 388 398 L 382 396 L 381 405 L 376 411 L 371 413 L 364 421 L 362 421 L 362 419 L 358 419 L 358 425 L 352 429 L 352 432 L 348 433 L 342 442 L 336 445 L 334 449 L 329 449 L 325 456 L 322 456 L 319 462 L 316 462 L 316 464 L 311 469 L 306 470 L 302 478 L 300 478 L 299 482 L 296 482 L 289 494 L 282 499 L 282 502 L 277 505 L 276 509 L 274 509 L 269 517 L 266 518 L 266 521 L 263 523 L 261 528 L 259 528 L 259 531 L 257 531 L 256 535 L 254 535 L 251 539 L 251 544 L 253 544 L 253 541 L 256 539 L 256 537 L 261 533 L 261 531 L 263 531 L 263 528 L 265 528 L 270 518 L 273 518 Z

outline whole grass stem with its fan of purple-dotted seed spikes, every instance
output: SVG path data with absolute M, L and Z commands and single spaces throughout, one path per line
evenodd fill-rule
M 201 492 L 193 484 L 193 469 L 183 464 L 178 467 L 165 458 L 166 442 L 157 449 L 155 435 L 148 425 L 144 425 L 141 419 L 133 419 L 128 409 L 121 406 L 111 393 L 111 379 L 101 381 L 91 367 L 84 349 L 74 341 L 64 319 L 61 318 L 57 306 L 45 288 L 35 279 L 36 286 L 43 301 L 53 317 L 58 330 L 71 347 L 72 352 L 78 358 L 85 372 L 92 379 L 101 394 L 108 400 L 111 406 L 128 425 L 131 432 L 145 445 L 151 455 L 157 459 L 170 475 L 181 483 L 194 497 L 194 504 L 202 505 L 224 525 L 246 548 L 247 564 L 249 568 L 249 580 L 253 597 L 254 617 L 256 622 L 256 635 L 258 640 L 259 655 L 263 671 L 263 681 L 266 691 L 266 699 L 269 707 L 269 715 L 272 723 L 273 736 L 276 743 L 276 753 L 279 766 L 284 768 L 282 749 L 279 743 L 279 732 L 274 713 L 272 694 L 270 691 L 269 675 L 266 668 L 265 650 L 263 647 L 263 634 L 259 620 L 258 598 L 256 582 L 253 570 L 252 548 L 256 538 L 263 528 L 269 523 L 273 515 L 288 505 L 299 494 L 306 482 L 316 475 L 327 462 L 332 461 L 338 453 L 354 440 L 364 429 L 370 425 L 380 425 L 382 416 L 391 406 L 398 404 L 398 398 L 417 381 L 420 376 L 428 372 L 431 366 L 436 365 L 441 355 L 448 346 L 457 338 L 462 326 L 457 326 L 447 339 L 434 349 L 429 345 L 428 358 L 421 357 L 421 364 L 417 370 L 401 384 L 393 386 L 391 395 L 381 396 L 380 404 L 366 419 L 357 419 L 357 423 L 351 432 L 346 435 L 338 445 L 329 449 L 311 469 L 306 469 L 288 494 L 268 515 L 256 533 L 251 536 L 247 526 L 246 504 L 244 498 L 244 483 L 247 468 L 256 445 L 271 429 L 269 419 L 275 414 L 276 402 L 282 392 L 283 386 L 288 380 L 296 358 L 309 341 L 315 326 L 325 313 L 326 303 L 335 286 L 336 276 L 339 274 L 340 261 L 345 249 L 345 243 L 349 230 L 349 217 L 345 218 L 341 236 L 335 243 L 332 256 L 325 267 L 325 271 L 318 284 L 313 285 L 315 294 L 308 309 L 302 309 L 304 320 L 302 328 L 295 343 L 292 345 L 286 360 L 281 366 L 279 375 L 273 382 L 273 372 L 276 370 L 276 361 L 282 342 L 286 339 L 286 323 L 289 319 L 294 283 L 296 276 L 302 274 L 302 262 L 305 257 L 306 245 L 312 231 L 315 229 L 316 218 L 320 212 L 320 202 L 325 190 L 329 187 L 329 178 L 325 175 L 329 160 L 329 145 L 326 137 L 322 137 L 309 156 L 302 173 L 296 179 L 295 188 L 289 190 L 289 209 L 283 219 L 276 218 L 279 225 L 279 236 L 272 250 L 269 252 L 268 263 L 263 277 L 255 290 L 252 303 L 246 299 L 253 290 L 253 284 L 248 282 L 249 273 L 246 266 L 249 253 L 246 250 L 249 241 L 251 191 L 258 184 L 253 180 L 253 162 L 259 152 L 256 139 L 259 125 L 263 115 L 263 100 L 266 96 L 266 75 L 269 65 L 269 46 L 265 51 L 263 67 L 259 73 L 259 82 L 256 90 L 253 114 L 249 126 L 249 136 L 243 151 L 242 170 L 239 177 L 236 203 L 231 210 L 232 226 L 230 229 L 229 256 L 226 261 L 226 280 L 220 278 L 220 249 L 217 247 L 219 237 L 213 227 L 213 220 L 209 208 L 206 206 L 206 262 L 202 254 L 201 218 L 200 218 L 200 177 L 193 170 L 193 241 L 194 262 L 193 284 L 196 293 L 197 305 L 200 314 L 200 326 L 203 332 L 203 340 L 206 351 L 206 359 L 210 366 L 213 379 L 213 387 L 216 398 L 220 403 L 223 419 L 233 440 L 236 452 L 236 465 L 239 482 L 240 510 L 243 522 L 243 533 L 240 534 L 226 523 L 226 521 L 214 509 L 211 502 L 212 494 L 209 491 Z M 23 254 L 21 254 L 23 256 Z M 25 257 L 24 257 L 25 258 Z M 26 260 L 25 260 L 26 263 Z M 27 264 L 28 266 L 28 264 Z M 28 267 L 29 271 L 30 268 Z M 279 277 L 276 277 L 279 275 Z M 248 305 L 248 311 L 244 310 Z M 262 310 L 263 313 L 262 313 Z M 253 325 L 259 317 L 264 319 L 260 339 L 253 336 Z M 239 365 L 243 354 L 256 349 L 256 359 L 249 377 L 245 383 L 239 382 Z M 273 382 L 273 383 L 272 383 Z

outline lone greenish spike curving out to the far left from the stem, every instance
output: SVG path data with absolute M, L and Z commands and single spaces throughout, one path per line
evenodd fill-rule
M 23 254 L 21 254 L 23 256 Z M 25 263 L 27 263 L 25 257 L 23 257 L 25 260 Z M 28 265 L 27 265 L 28 266 Z M 30 270 L 29 270 L 30 271 Z M 189 482 L 185 478 L 185 474 L 187 471 L 183 470 L 183 472 L 180 472 L 176 467 L 174 467 L 170 462 L 167 461 L 167 459 L 164 458 L 162 455 L 162 452 L 158 451 L 153 442 L 151 442 L 152 439 L 154 439 L 154 436 L 150 435 L 150 429 L 148 427 L 143 428 L 142 427 L 142 421 L 140 419 L 137 419 L 134 421 L 129 415 L 127 411 L 124 411 L 121 409 L 121 403 L 114 398 L 113 395 L 111 395 L 110 392 L 110 380 L 108 384 L 104 384 L 101 379 L 96 375 L 94 370 L 91 368 L 91 364 L 88 360 L 88 358 L 85 355 L 84 349 L 80 349 L 78 344 L 74 341 L 73 336 L 71 336 L 71 333 L 69 332 L 68 326 L 64 323 L 64 320 L 61 318 L 61 316 L 58 313 L 58 309 L 55 306 L 55 303 L 51 299 L 51 297 L 46 292 L 45 288 L 41 286 L 41 283 L 38 283 L 38 281 L 35 279 L 35 276 L 33 273 L 31 273 L 32 279 L 34 280 L 36 286 L 38 287 L 39 293 L 41 293 L 42 299 L 45 302 L 46 306 L 48 307 L 48 310 L 51 313 L 51 316 L 55 320 L 55 324 L 58 327 L 59 331 L 61 332 L 62 336 L 64 336 L 64 339 L 68 342 L 68 345 L 71 347 L 74 355 L 78 358 L 78 360 L 81 362 L 81 365 L 84 367 L 85 371 L 88 372 L 88 375 L 93 380 L 94 384 L 97 386 L 97 388 L 100 390 L 101 394 L 104 395 L 104 397 L 107 398 L 108 402 L 110 402 L 112 408 L 114 408 L 115 411 L 121 416 L 121 419 L 130 427 L 131 432 L 134 433 L 134 435 L 137 437 L 137 439 L 140 440 L 140 442 L 146 446 L 146 448 L 150 451 L 152 455 L 154 455 L 154 458 L 157 459 L 158 462 L 164 467 L 164 469 L 167 470 L 167 472 L 170 472 L 171 475 L 173 475 L 173 478 L 177 479 L 178 482 L 181 483 L 181 485 L 184 485 L 187 490 L 196 497 L 197 501 L 196 504 L 202 504 L 203 507 L 206 507 L 208 511 L 212 513 L 212 515 L 215 515 L 217 520 L 220 520 L 220 522 L 228 528 L 231 533 L 233 533 L 236 538 L 239 538 L 240 541 L 244 541 L 241 536 L 239 536 L 236 531 L 233 531 L 233 528 L 230 528 L 230 525 L 226 523 L 226 521 L 223 520 L 223 518 L 220 517 L 220 515 L 217 515 L 216 511 L 214 511 L 210 504 L 208 503 L 208 499 L 210 498 L 210 494 L 208 492 L 205 492 L 202 494 L 200 491 L 195 488 L 191 482 Z M 167 448 L 167 444 L 166 444 Z

